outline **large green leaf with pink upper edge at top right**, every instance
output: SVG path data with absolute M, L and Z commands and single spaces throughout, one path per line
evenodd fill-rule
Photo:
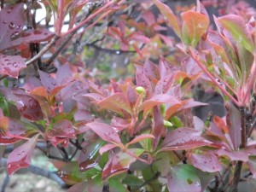
M 216 25 L 218 23 L 223 26 L 228 32 L 230 32 L 237 41 L 238 44 L 241 44 L 245 49 L 253 53 L 253 39 L 250 36 L 250 32 L 245 25 L 244 20 L 239 15 L 225 15 L 217 19 Z

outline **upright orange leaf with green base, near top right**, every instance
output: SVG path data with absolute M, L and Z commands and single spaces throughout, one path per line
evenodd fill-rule
M 202 35 L 207 32 L 210 20 L 207 15 L 189 10 L 181 14 L 183 19 L 183 42 L 195 47 Z

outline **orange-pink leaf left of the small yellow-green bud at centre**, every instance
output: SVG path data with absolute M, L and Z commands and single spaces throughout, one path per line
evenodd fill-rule
M 97 105 L 117 113 L 122 113 L 122 110 L 131 113 L 130 103 L 123 93 L 115 93 L 112 96 L 108 96 L 102 99 L 102 101 L 97 102 Z

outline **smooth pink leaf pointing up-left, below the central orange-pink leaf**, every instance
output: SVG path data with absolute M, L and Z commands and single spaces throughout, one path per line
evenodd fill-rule
M 119 135 L 112 126 L 98 122 L 91 122 L 86 125 L 103 140 L 110 143 L 121 143 Z

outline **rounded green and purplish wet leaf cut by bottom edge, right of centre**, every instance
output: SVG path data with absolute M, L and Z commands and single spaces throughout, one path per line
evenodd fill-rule
M 167 187 L 170 192 L 201 192 L 201 180 L 195 173 L 195 167 L 183 164 L 172 167 L 167 176 Z

